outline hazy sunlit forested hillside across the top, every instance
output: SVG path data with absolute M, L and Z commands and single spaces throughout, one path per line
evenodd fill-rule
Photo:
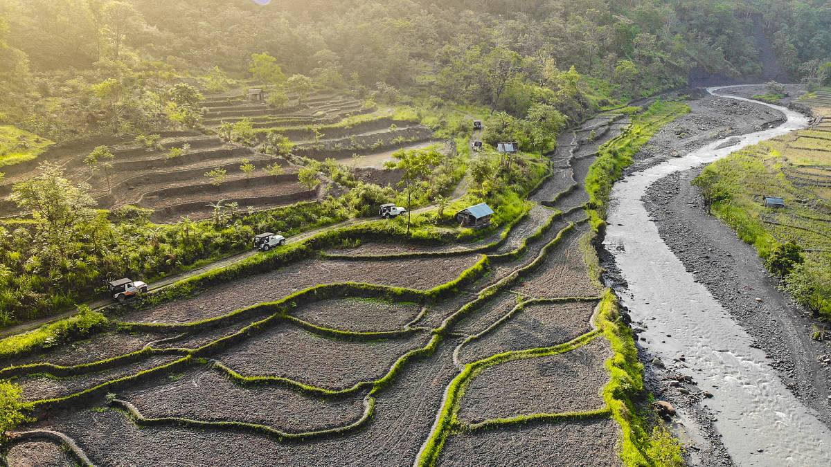
M 316 86 L 520 118 L 544 103 L 578 119 L 583 95 L 654 94 L 693 68 L 758 75 L 765 37 L 794 80 L 817 79 L 829 15 L 816 0 L 4 0 L 0 122 L 52 140 L 100 131 L 113 113 L 134 126 L 116 132 L 172 125 L 172 81 L 221 90 L 263 52 Z

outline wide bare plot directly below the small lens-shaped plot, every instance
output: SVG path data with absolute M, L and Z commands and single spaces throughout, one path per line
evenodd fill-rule
M 408 351 L 425 347 L 426 332 L 372 342 L 338 341 L 278 326 L 216 356 L 243 376 L 283 376 L 331 390 L 375 381 Z

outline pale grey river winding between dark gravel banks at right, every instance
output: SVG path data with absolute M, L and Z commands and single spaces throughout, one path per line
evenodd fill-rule
M 707 91 L 726 87 L 732 86 Z M 787 121 L 740 136 L 738 145 L 721 150 L 715 147 L 732 138 L 715 141 L 615 184 L 604 244 L 629 286 L 631 297 L 622 302 L 633 320 L 647 323 L 641 335 L 650 342 L 649 350 L 663 361 L 685 354 L 687 374 L 715 396 L 701 403 L 715 413 L 715 429 L 736 465 L 831 465 L 831 430 L 785 388 L 765 354 L 750 347 L 747 332 L 686 272 L 641 201 L 647 188 L 666 175 L 808 125 L 794 111 L 768 106 L 783 112 Z

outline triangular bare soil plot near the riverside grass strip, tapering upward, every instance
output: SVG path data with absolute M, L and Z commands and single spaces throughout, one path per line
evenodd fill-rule
M 535 298 L 597 297 L 602 292 L 591 278 L 580 251 L 580 238 L 591 226 L 579 224 L 563 238 L 543 265 L 524 277 L 512 290 Z

